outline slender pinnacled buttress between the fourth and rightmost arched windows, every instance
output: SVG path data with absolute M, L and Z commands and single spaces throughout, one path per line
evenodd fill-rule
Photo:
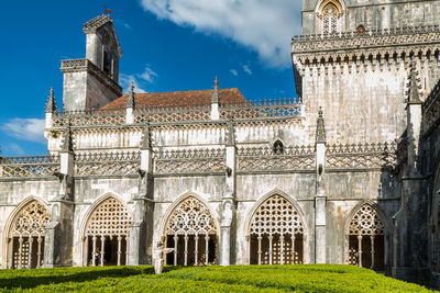
M 322 178 L 326 168 L 326 127 L 322 110 L 319 110 L 316 133 L 317 187 L 315 196 L 315 263 L 327 262 L 327 196 Z

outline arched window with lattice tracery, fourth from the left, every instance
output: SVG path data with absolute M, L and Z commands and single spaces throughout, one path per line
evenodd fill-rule
M 302 262 L 302 223 L 298 211 L 285 198 L 273 195 L 263 202 L 251 221 L 251 264 Z

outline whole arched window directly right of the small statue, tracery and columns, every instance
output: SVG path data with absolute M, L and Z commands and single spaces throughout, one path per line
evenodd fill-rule
M 218 229 L 208 207 L 194 196 L 180 202 L 165 226 L 167 264 L 200 266 L 217 263 Z

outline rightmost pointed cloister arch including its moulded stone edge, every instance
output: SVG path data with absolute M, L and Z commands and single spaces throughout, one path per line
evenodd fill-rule
M 376 203 L 361 201 L 345 219 L 345 262 L 383 271 L 389 225 Z

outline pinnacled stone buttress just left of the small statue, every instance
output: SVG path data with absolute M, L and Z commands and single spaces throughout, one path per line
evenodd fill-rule
M 139 195 L 133 198 L 133 221 L 130 226 L 129 266 L 152 263 L 153 253 L 153 151 L 150 125 L 146 124 L 141 140 L 141 168 Z

